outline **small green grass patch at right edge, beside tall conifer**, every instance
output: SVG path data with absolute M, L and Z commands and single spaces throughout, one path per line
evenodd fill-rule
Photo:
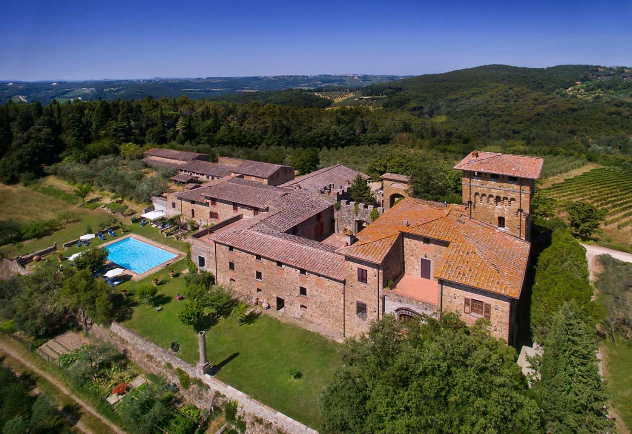
M 623 338 L 616 342 L 604 341 L 605 372 L 612 404 L 623 423 L 632 431 L 632 346 Z

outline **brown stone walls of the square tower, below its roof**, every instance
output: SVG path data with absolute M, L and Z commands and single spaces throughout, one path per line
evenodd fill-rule
M 497 226 L 498 217 L 504 217 L 507 232 L 529 240 L 533 186 L 532 179 L 510 182 L 505 175 L 499 175 L 498 180 L 492 180 L 489 173 L 475 177 L 473 172 L 463 171 L 463 203 L 471 201 L 468 212 L 472 218 Z

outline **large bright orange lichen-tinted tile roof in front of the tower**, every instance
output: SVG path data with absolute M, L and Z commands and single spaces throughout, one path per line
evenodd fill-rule
M 462 211 L 459 205 L 406 198 L 360 232 L 358 242 L 337 251 L 380 263 L 399 233 L 442 240 L 449 245 L 435 278 L 520 297 L 530 243 L 472 220 Z

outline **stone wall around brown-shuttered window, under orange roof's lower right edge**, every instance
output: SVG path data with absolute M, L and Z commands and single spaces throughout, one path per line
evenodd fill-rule
M 456 312 L 461 315 L 465 324 L 474 325 L 480 316 L 466 314 L 463 309 L 465 298 L 473 298 L 491 305 L 490 332 L 492 336 L 504 339 L 507 343 L 513 341 L 513 320 L 515 319 L 516 301 L 512 298 L 497 295 L 487 291 L 477 290 L 468 286 L 459 285 L 446 281 L 442 283 L 443 295 L 441 299 L 442 308 L 448 312 Z

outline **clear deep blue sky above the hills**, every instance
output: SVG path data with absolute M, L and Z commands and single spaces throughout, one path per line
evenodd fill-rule
M 0 79 L 632 66 L 632 1 L 14 1 Z

